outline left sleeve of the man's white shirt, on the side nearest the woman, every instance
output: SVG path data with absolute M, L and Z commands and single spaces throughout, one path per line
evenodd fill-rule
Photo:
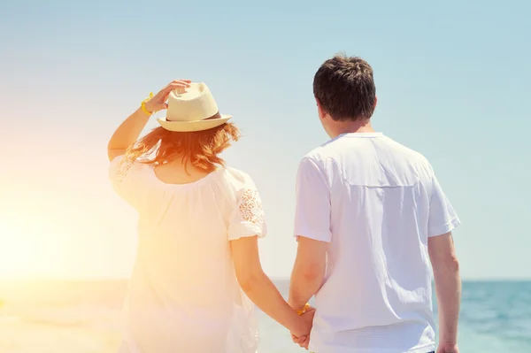
M 294 235 L 330 242 L 330 189 L 325 174 L 304 157 L 296 175 Z

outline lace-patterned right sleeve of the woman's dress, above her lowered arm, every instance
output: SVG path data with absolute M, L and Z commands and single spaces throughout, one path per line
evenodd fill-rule
M 265 212 L 252 180 L 247 180 L 238 194 L 240 196 L 229 220 L 228 240 L 235 241 L 254 235 L 258 235 L 258 238 L 266 236 Z

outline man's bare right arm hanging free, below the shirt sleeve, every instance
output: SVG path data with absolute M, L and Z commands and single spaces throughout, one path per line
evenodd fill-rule
M 429 237 L 427 250 L 434 269 L 440 346 L 444 349 L 454 349 L 458 344 L 461 279 L 451 232 Z

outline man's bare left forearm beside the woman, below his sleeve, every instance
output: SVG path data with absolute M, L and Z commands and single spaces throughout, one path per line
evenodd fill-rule
M 289 305 L 300 310 L 321 287 L 327 267 L 327 242 L 298 237 L 295 265 L 291 272 Z

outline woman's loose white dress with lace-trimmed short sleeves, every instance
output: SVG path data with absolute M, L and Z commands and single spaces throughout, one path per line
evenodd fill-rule
M 249 175 L 221 168 L 184 185 L 116 157 L 115 190 L 139 213 L 138 251 L 119 353 L 254 353 L 254 305 L 235 277 L 230 240 L 266 235 Z

